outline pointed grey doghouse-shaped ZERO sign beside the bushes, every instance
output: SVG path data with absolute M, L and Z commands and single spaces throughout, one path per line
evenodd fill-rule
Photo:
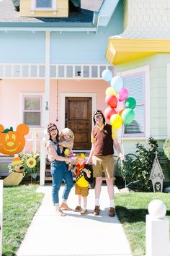
M 151 169 L 151 175 L 149 179 L 152 181 L 153 192 L 162 192 L 163 179 L 165 179 L 165 177 L 161 165 L 158 161 L 158 152 L 156 152 L 156 157 L 153 161 L 153 167 Z

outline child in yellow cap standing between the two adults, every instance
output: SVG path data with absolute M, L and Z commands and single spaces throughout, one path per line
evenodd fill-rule
M 76 185 L 75 185 L 75 194 L 78 195 L 79 205 L 76 207 L 75 211 L 80 212 L 81 215 L 87 213 L 86 204 L 87 204 L 87 195 L 89 192 L 89 182 L 88 178 L 91 176 L 91 170 L 88 165 L 85 165 L 85 155 L 79 153 L 76 155 L 76 166 L 73 168 L 73 172 L 76 175 Z M 81 198 L 83 198 L 84 207 L 81 208 Z

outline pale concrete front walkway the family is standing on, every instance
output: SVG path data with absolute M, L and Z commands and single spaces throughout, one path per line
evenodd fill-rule
M 45 197 L 32 219 L 17 256 L 131 255 L 120 221 L 117 216 L 108 216 L 107 186 L 102 186 L 99 216 L 92 214 L 94 189 L 89 189 L 89 214 L 86 216 L 73 211 L 65 211 L 65 217 L 56 216 L 51 202 L 51 186 L 39 187 L 37 192 L 45 193 Z M 62 192 L 63 187 L 60 195 Z M 119 190 L 115 187 L 115 193 L 117 192 Z M 68 205 L 75 208 L 76 204 L 73 187 L 68 197 Z

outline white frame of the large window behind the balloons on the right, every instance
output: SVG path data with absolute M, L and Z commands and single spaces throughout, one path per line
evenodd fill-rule
M 136 69 L 129 69 L 126 71 L 122 71 L 122 72 L 117 72 L 117 76 L 133 76 L 133 74 L 138 74 L 140 72 L 144 73 L 144 80 L 145 80 L 145 84 L 144 84 L 144 92 L 145 92 L 145 129 L 144 129 L 144 136 L 143 137 L 138 137 L 138 135 L 136 134 L 136 136 L 132 136 L 130 137 L 128 135 L 128 137 L 123 137 L 123 135 L 121 135 L 121 137 L 124 140 L 141 140 L 141 139 L 145 139 L 147 140 L 149 137 L 151 137 L 151 120 L 150 120 L 150 67 L 149 65 L 143 66 L 143 67 L 139 67 Z

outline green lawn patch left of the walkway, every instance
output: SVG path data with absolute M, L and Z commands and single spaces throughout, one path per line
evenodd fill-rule
M 14 256 L 43 195 L 38 185 L 4 187 L 3 256 Z

